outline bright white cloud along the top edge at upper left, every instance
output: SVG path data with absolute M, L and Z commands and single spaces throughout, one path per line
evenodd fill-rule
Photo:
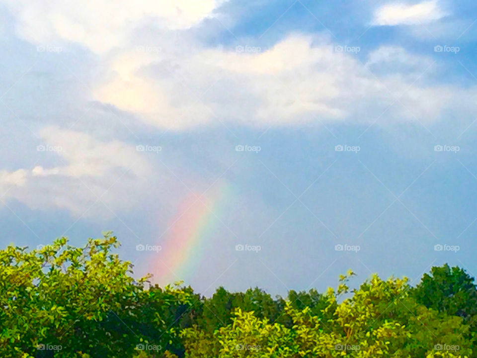
M 206 17 L 223 0 L 3 0 L 16 16 L 18 33 L 36 44 L 80 43 L 105 53 L 124 46 L 147 23 L 186 29 Z

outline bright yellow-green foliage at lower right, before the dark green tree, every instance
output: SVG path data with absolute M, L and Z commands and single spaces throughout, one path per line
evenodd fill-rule
M 407 279 L 382 280 L 373 275 L 350 298 L 341 276 L 336 290 L 320 299 L 327 304 L 315 315 L 309 306 L 294 308 L 287 301 L 288 328 L 257 317 L 253 311 L 234 311 L 232 323 L 213 333 L 199 327 L 181 332 L 186 357 L 470 357 L 472 346 L 460 334 L 462 319 L 429 310 L 408 296 Z M 332 313 L 331 313 L 332 312 Z M 332 314 L 324 322 L 322 317 Z M 442 347 L 442 348 L 441 348 Z M 458 348 L 457 350 L 453 350 Z

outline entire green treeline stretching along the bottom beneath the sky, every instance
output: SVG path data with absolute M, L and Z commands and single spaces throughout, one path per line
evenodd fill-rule
M 134 279 L 118 245 L 107 234 L 83 248 L 61 238 L 1 250 L 0 356 L 477 357 L 476 285 L 458 267 L 415 286 L 373 275 L 350 290 L 348 271 L 323 293 L 220 287 L 207 298 Z

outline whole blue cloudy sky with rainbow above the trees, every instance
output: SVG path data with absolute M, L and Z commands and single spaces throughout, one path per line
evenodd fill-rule
M 1 246 L 211 295 L 475 276 L 474 1 L 0 0 Z

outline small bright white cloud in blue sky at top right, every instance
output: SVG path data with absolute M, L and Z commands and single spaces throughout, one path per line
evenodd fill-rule
M 374 13 L 374 25 L 413 25 L 440 19 L 446 14 L 437 0 L 409 5 L 402 2 L 386 4 Z

